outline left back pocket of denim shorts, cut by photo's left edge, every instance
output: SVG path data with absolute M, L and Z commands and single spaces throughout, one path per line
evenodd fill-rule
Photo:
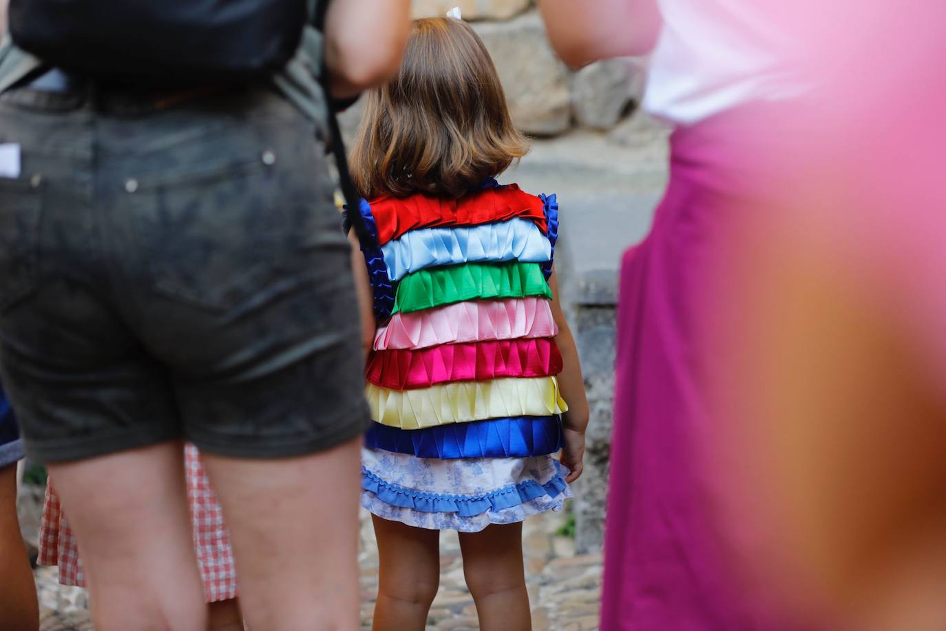
M 39 177 L 0 178 L 0 310 L 36 289 L 42 188 Z

